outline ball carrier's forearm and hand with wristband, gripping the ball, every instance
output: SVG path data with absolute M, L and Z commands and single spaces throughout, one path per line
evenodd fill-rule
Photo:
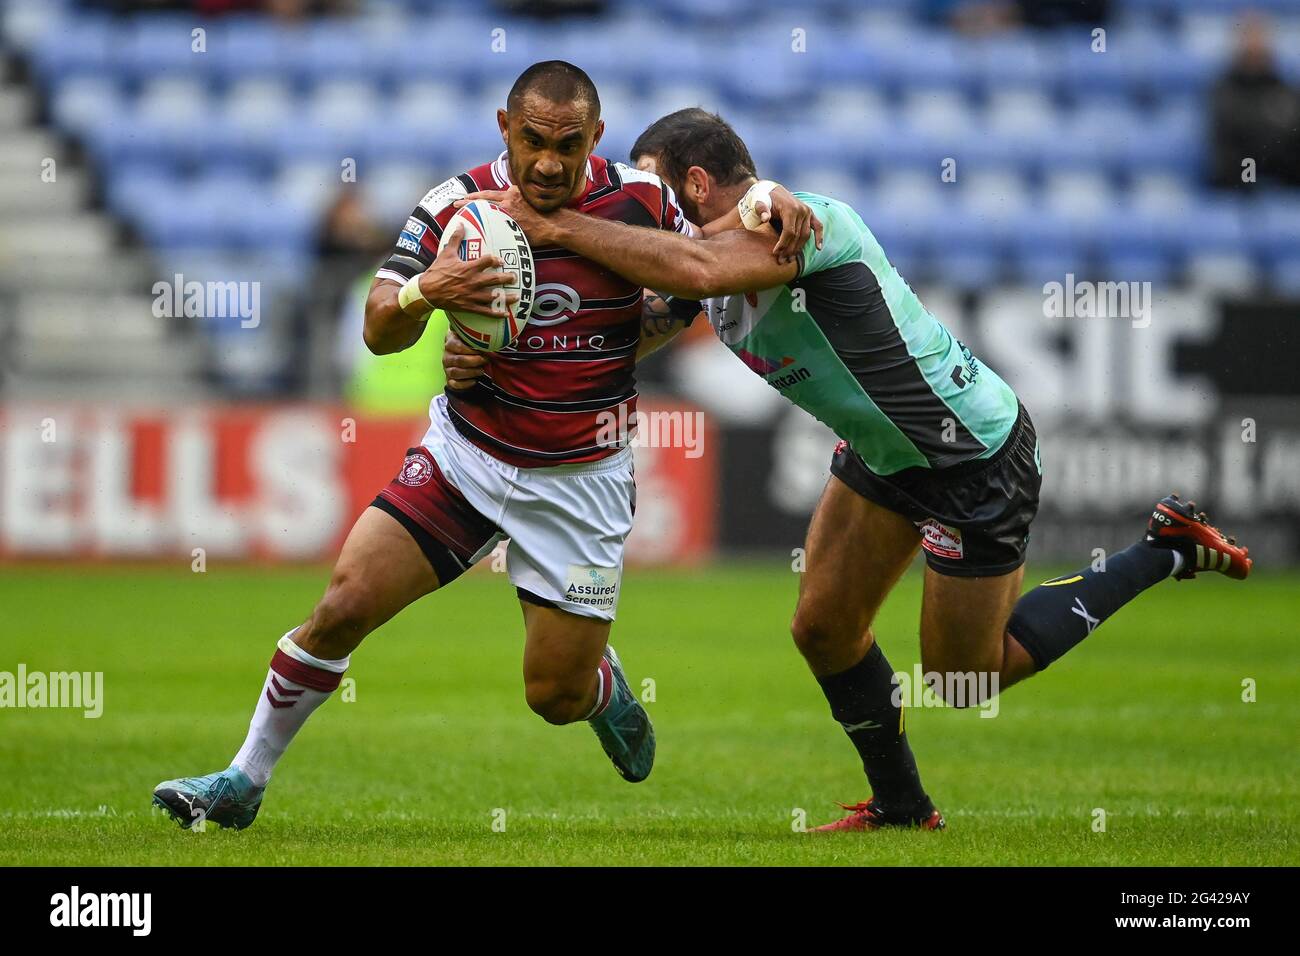
M 458 229 L 459 225 L 454 225 Z M 480 315 L 506 315 L 508 303 L 500 302 L 495 286 L 510 276 L 497 269 L 497 256 L 463 261 L 456 242 L 448 242 L 428 269 L 406 285 L 391 278 L 377 278 L 365 299 L 365 346 L 376 355 L 410 349 L 424 334 L 424 324 L 436 308 Z M 489 272 L 489 269 L 493 269 Z

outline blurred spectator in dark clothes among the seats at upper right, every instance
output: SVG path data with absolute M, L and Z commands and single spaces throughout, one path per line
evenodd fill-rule
M 1254 160 L 1258 182 L 1300 186 L 1300 92 L 1278 74 L 1264 17 L 1243 21 L 1232 62 L 1210 96 L 1210 116 L 1216 186 L 1247 189 L 1247 159 Z

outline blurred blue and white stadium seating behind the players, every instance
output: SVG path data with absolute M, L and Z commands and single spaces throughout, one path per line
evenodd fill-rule
M 302 260 L 344 157 L 384 215 L 400 216 L 424 170 L 428 186 L 500 151 L 506 90 L 555 56 L 602 90 L 602 155 L 625 160 L 663 113 L 720 111 L 760 172 L 853 203 L 898 263 L 941 281 L 1097 267 L 1300 285 L 1296 194 L 1222 198 L 1201 178 L 1205 94 L 1235 12 L 1292 14 L 1278 57 L 1300 79 L 1295 0 L 1128 0 L 1105 53 L 1087 26 L 957 36 L 914 0 L 810 0 L 798 17 L 783 0 L 614 0 L 601 20 L 562 23 L 451 0 L 302 25 L 55 5 L 64 12 L 25 21 L 53 25 L 30 34 L 51 116 L 86 143 L 109 208 L 156 246 Z M 199 25 L 205 53 L 191 49 Z M 491 52 L 498 27 L 504 52 Z M 796 27 L 807 53 L 792 51 Z M 957 183 L 940 182 L 945 159 Z

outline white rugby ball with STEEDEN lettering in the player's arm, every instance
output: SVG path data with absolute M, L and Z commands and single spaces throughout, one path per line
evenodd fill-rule
M 456 225 L 459 224 L 459 230 Z M 500 272 L 511 278 L 497 286 L 507 295 L 517 295 L 519 302 L 507 316 L 480 315 L 478 312 L 447 311 L 451 328 L 472 349 L 494 352 L 512 345 L 528 324 L 533 311 L 533 250 L 519 224 L 500 211 L 497 203 L 474 199 L 462 206 L 442 230 L 441 252 L 448 242 L 458 242 L 458 255 L 471 261 L 494 255 L 500 259 Z

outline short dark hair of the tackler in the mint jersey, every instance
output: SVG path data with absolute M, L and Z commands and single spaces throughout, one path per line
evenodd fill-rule
M 745 140 L 720 116 L 699 107 L 679 109 L 650 124 L 632 147 L 632 163 L 642 156 L 655 160 L 656 172 L 673 189 L 680 187 L 692 166 L 703 169 L 719 186 L 755 176 Z

